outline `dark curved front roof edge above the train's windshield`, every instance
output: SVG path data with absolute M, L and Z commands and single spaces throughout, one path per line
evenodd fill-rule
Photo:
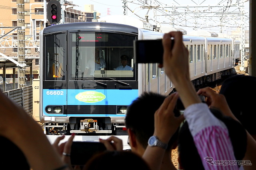
M 58 25 L 52 25 L 43 29 L 43 33 L 53 33 L 60 31 L 72 31 L 72 30 L 111 30 L 127 33 L 138 34 L 138 28 L 130 25 L 124 25 L 119 23 L 107 23 L 107 22 L 75 22 L 75 23 L 62 23 Z

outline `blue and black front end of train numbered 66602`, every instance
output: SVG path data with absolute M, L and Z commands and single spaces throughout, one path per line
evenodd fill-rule
M 47 135 L 126 134 L 126 109 L 138 97 L 137 37 L 136 27 L 100 22 L 41 32 L 40 121 Z

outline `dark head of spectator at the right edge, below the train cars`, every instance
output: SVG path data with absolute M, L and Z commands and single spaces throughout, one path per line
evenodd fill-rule
M 251 135 L 256 135 L 255 100 L 251 99 L 256 96 L 255 86 L 256 77 L 239 74 L 224 80 L 220 88 L 232 113 Z

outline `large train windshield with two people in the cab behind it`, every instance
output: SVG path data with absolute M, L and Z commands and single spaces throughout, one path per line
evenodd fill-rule
M 70 80 L 134 79 L 135 35 L 106 32 L 70 33 Z

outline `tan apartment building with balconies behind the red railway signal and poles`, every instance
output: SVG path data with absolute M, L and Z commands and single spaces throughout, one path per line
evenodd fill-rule
M 46 0 L 48 3 L 50 0 Z M 71 1 L 60 0 L 64 2 L 62 8 L 64 8 L 64 22 L 85 22 L 92 21 L 94 18 L 93 5 L 85 5 L 86 12 L 75 10 L 76 6 Z M 12 59 L 18 59 L 18 29 L 17 27 L 17 8 L 21 4 L 17 4 L 16 0 L 4 0 L 0 4 L 1 13 L 0 16 L 0 53 L 12 57 Z M 89 6 L 89 7 L 87 7 Z M 19 13 L 18 13 L 19 14 Z M 100 13 L 97 13 L 97 18 Z M 24 26 L 25 26 L 25 56 L 26 63 L 26 80 L 29 81 L 30 71 L 34 78 L 39 76 L 39 52 L 40 52 L 40 31 L 45 27 L 47 17 L 44 16 L 44 0 L 24 0 Z M 63 21 L 62 21 L 63 23 Z M 11 82 L 14 77 L 13 68 L 16 64 L 6 59 L 1 59 L 0 55 L 0 76 L 3 74 L 3 67 L 6 67 L 6 81 Z M 32 69 L 30 68 L 32 67 Z M 16 73 L 18 68 L 16 68 Z M 16 74 L 17 78 L 18 75 Z M 9 79 L 8 79 L 9 78 Z M 1 79 L 1 77 L 0 77 Z

